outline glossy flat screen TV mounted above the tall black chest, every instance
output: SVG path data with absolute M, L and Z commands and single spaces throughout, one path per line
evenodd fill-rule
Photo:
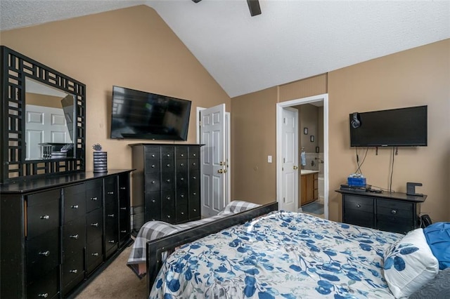
M 191 101 L 113 86 L 110 138 L 187 140 Z

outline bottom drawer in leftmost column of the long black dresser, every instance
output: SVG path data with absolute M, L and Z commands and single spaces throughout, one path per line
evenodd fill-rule
M 39 276 L 39 279 L 27 284 L 27 298 L 58 298 L 59 267 Z

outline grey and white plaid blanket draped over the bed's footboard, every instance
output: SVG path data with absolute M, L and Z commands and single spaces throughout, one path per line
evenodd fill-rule
M 201 220 L 186 222 L 178 225 L 173 225 L 162 221 L 146 222 L 146 224 L 141 227 L 141 230 L 139 230 L 139 233 L 134 240 L 133 248 L 131 248 L 131 253 L 129 254 L 127 261 L 127 266 L 130 267 L 139 278 L 142 278 L 146 275 L 146 249 L 148 241 L 159 239 L 176 232 L 181 232 L 182 230 L 187 230 L 191 227 L 203 225 L 219 218 L 225 218 L 228 215 L 240 213 L 242 211 L 249 210 L 250 208 L 256 208 L 257 206 L 260 205 L 252 204 L 248 201 L 235 200 L 226 205 L 225 208 L 217 215 Z M 163 254 L 162 258 L 167 258 L 167 254 Z

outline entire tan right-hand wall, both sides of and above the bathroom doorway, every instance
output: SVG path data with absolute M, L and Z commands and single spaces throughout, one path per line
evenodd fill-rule
M 355 150 L 349 147 L 348 115 L 376 109 L 428 105 L 428 147 L 399 148 L 394 157 L 392 189 L 406 191 L 406 182 L 422 182 L 418 192 L 428 194 L 422 212 L 432 220 L 450 220 L 450 39 L 387 55 L 358 65 L 279 86 L 279 101 L 326 93 L 329 96 L 329 218 L 341 220 L 341 199 L 334 190 L 356 170 Z M 323 84 L 327 84 L 323 87 Z M 267 166 L 266 152 L 276 148 L 276 136 L 264 128 L 276 128 L 275 88 L 231 99 L 231 114 L 245 115 L 245 121 L 232 122 L 233 198 L 255 202 L 276 197 L 275 159 Z M 247 102 L 247 103 L 243 103 Z M 264 111 L 264 115 L 259 112 Z M 269 112 L 269 113 L 267 113 Z M 262 121 L 261 117 L 266 117 Z M 250 127 L 252 130 L 250 131 Z M 251 135 L 248 135 L 251 133 Z M 275 134 L 275 133 L 273 133 Z M 250 142 L 258 140 L 258 142 Z M 236 150 L 239 147 L 241 150 Z M 360 152 L 362 152 L 360 150 Z M 362 166 L 368 183 L 388 188 L 390 184 L 389 149 L 368 150 Z M 257 162 L 254 160 L 257 159 Z M 253 166 L 266 164 L 265 180 Z M 254 182 L 258 184 L 246 184 Z M 263 194 L 263 200 L 257 197 Z

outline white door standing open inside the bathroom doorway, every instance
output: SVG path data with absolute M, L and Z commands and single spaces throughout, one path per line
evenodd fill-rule
M 281 208 L 285 211 L 297 212 L 298 208 L 298 110 L 283 109 L 283 126 L 281 127 L 283 142 L 282 180 L 283 194 Z

